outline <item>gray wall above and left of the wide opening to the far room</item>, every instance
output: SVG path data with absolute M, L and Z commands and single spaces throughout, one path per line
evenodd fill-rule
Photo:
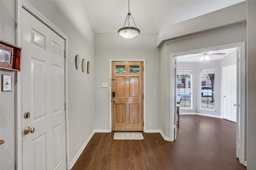
M 167 111 L 161 111 L 161 129 L 166 136 L 170 136 L 170 128 L 166 128 L 168 125 L 166 125 L 165 120 L 170 120 L 170 103 L 174 101 L 174 95 L 170 96 L 170 90 L 168 90 L 169 87 L 170 89 L 173 88 L 173 83 L 170 84 L 170 75 L 173 74 L 173 69 L 170 67 L 170 54 L 240 41 L 246 41 L 246 23 L 240 23 L 204 33 L 198 33 L 188 37 L 174 39 L 172 41 L 167 41 L 165 45 L 161 47 L 160 81 L 161 87 L 162 84 L 167 87 L 161 89 L 161 109 L 162 107 L 167 109 Z

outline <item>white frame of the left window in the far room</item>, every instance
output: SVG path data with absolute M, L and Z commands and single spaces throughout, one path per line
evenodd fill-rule
M 193 109 L 193 101 L 192 101 L 192 70 L 177 70 L 176 72 L 176 93 L 177 93 L 177 85 L 178 85 L 178 75 L 190 75 L 190 107 L 180 107 L 183 110 L 191 110 Z M 188 84 L 189 85 L 189 84 Z M 176 94 L 178 96 L 178 93 Z M 183 100 L 183 99 L 182 99 Z

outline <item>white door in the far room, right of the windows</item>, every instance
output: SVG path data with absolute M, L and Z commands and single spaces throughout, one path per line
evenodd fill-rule
M 223 118 L 236 122 L 236 65 L 222 68 Z

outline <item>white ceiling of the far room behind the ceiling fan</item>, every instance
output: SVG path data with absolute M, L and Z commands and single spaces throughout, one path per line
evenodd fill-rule
M 208 51 L 209 52 L 208 57 L 210 57 L 210 59 L 208 61 L 221 60 L 234 51 L 236 51 L 236 48 Z M 206 52 L 200 52 L 200 53 L 194 53 L 194 54 L 188 54 L 188 55 L 180 55 L 177 57 L 177 62 L 188 62 L 188 63 L 189 62 L 204 62 L 203 60 L 200 60 L 200 57 L 202 57 L 202 53 L 206 53 Z M 213 53 L 213 54 L 214 53 L 226 53 L 226 54 L 225 55 L 211 55 L 210 53 Z

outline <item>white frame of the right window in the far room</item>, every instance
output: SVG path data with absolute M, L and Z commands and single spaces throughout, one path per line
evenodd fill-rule
M 215 103 L 214 103 L 214 108 L 203 108 L 202 107 L 202 98 L 203 98 L 202 93 L 215 94 L 215 89 L 214 89 L 214 92 L 212 92 L 212 90 L 210 92 L 202 91 L 202 87 L 210 87 L 212 89 L 212 86 L 207 86 L 207 83 L 206 83 L 206 86 L 202 86 L 202 75 L 204 75 L 204 74 L 214 74 L 214 77 L 215 77 L 214 68 L 212 68 L 212 69 L 201 69 L 200 70 L 200 107 L 199 107 L 199 109 L 204 110 L 204 111 L 216 111 L 215 110 Z M 209 90 L 209 89 L 207 89 L 207 90 Z

